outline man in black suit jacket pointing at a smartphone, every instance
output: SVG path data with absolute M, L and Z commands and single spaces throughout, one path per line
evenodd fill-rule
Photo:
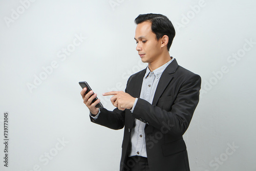
M 189 170 L 182 135 L 199 101 L 201 78 L 178 65 L 169 48 L 175 36 L 170 20 L 161 14 L 141 14 L 137 24 L 136 50 L 148 67 L 132 75 L 125 92 L 113 95 L 116 109 L 108 111 L 92 103 L 97 94 L 84 95 L 91 121 L 114 130 L 124 127 L 120 170 Z

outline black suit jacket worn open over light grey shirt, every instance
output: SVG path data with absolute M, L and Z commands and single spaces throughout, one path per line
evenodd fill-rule
M 133 113 L 127 109 L 108 111 L 103 108 L 98 118 L 91 118 L 91 121 L 114 130 L 124 126 L 120 170 L 129 170 L 126 162 L 136 118 L 146 123 L 146 152 L 150 170 L 187 171 L 188 156 L 182 135 L 199 101 L 201 77 L 182 68 L 174 59 L 163 71 L 151 104 L 139 98 L 145 72 L 146 69 L 132 75 L 126 84 L 125 92 L 138 98 Z

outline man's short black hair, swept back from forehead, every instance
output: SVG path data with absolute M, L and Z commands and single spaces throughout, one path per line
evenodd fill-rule
M 175 29 L 170 22 L 170 20 L 162 15 L 162 14 L 140 14 L 137 18 L 135 18 L 134 22 L 138 25 L 143 22 L 151 22 L 151 30 L 153 33 L 156 34 L 157 39 L 159 40 L 164 35 L 167 35 L 169 37 L 169 41 L 167 44 L 167 50 L 170 50 L 170 45 L 172 45 L 174 36 L 175 36 Z

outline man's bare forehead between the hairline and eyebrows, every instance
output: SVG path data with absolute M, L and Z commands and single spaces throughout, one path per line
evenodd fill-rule
M 142 22 L 137 25 L 136 30 L 135 30 L 135 37 L 136 39 L 141 39 L 142 37 L 144 38 L 151 38 L 155 37 L 155 33 L 152 32 L 151 29 L 151 22 Z

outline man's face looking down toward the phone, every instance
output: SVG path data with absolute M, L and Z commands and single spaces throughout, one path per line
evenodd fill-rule
M 157 40 L 156 34 L 151 30 L 151 22 L 137 25 L 134 39 L 142 62 L 154 62 L 161 54 L 161 38 Z

